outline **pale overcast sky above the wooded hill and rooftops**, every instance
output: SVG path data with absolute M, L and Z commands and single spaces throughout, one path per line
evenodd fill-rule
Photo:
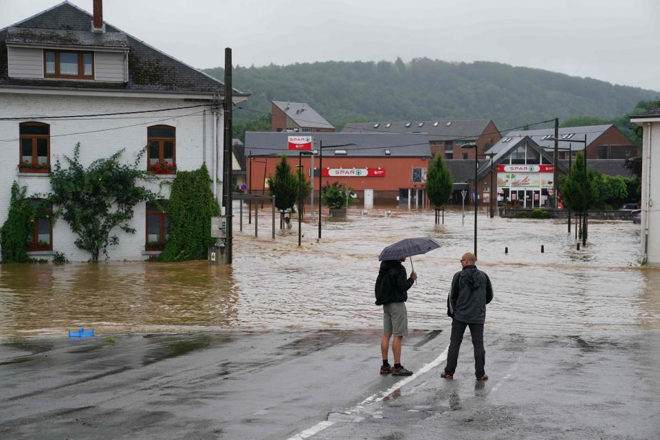
M 0 28 L 58 3 L 0 0 Z M 105 0 L 103 14 L 199 68 L 224 47 L 241 66 L 426 56 L 660 91 L 660 0 Z

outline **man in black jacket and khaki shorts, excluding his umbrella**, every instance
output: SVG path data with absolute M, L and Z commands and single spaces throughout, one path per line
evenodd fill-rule
M 380 374 L 392 373 L 395 376 L 409 376 L 412 371 L 401 365 L 401 342 L 404 336 L 408 336 L 408 311 L 406 300 L 408 300 L 408 289 L 415 283 L 417 274 L 410 272 L 410 278 L 406 276 L 406 268 L 403 263 L 406 259 L 383 261 L 380 263 L 380 272 L 388 276 L 391 287 L 395 289 L 395 299 L 392 303 L 383 305 L 383 338 L 380 341 L 380 351 L 383 364 Z M 387 360 L 390 336 L 394 335 L 392 341 L 392 352 L 394 353 L 394 366 L 391 367 Z

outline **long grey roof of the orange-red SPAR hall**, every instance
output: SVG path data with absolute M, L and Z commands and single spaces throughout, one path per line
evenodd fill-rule
M 296 133 L 274 131 L 248 131 L 245 133 L 245 154 L 298 155 L 289 151 L 289 135 Z M 319 141 L 325 145 L 351 144 L 337 148 L 323 148 L 323 157 L 430 157 L 428 136 L 418 133 L 300 133 L 313 135 L 318 150 Z M 391 155 L 386 155 L 388 149 Z M 345 150 L 346 155 L 335 155 L 335 150 Z

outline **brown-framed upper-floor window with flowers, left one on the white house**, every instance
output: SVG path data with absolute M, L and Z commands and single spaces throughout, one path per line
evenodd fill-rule
M 48 173 L 50 171 L 50 125 L 42 122 L 21 122 L 21 173 Z

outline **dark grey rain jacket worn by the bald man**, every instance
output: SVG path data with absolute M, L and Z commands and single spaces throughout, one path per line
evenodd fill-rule
M 468 324 L 483 324 L 486 305 L 493 299 L 490 278 L 475 265 L 467 265 L 456 272 L 447 298 L 448 314 Z

